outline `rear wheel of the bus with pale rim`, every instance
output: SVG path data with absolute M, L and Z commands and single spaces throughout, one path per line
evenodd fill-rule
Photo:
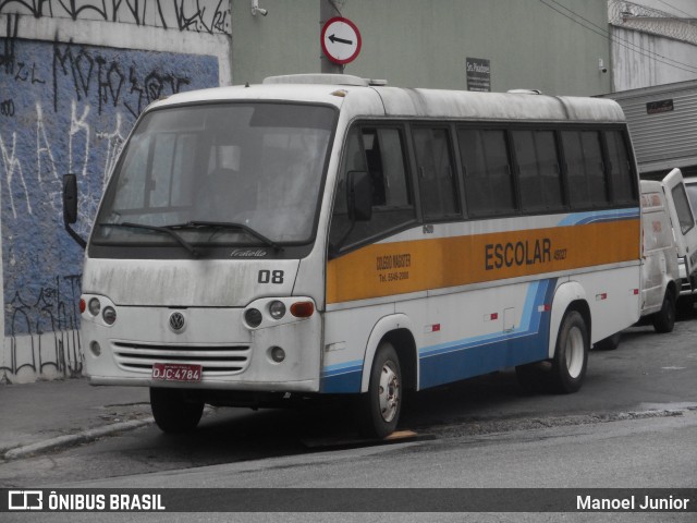
M 564 315 L 552 358 L 551 386 L 560 393 L 580 389 L 586 377 L 589 349 L 588 328 L 577 311 Z

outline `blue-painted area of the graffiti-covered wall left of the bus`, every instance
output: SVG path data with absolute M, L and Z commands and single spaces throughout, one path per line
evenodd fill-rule
M 78 177 L 86 235 L 136 117 L 162 96 L 219 85 L 218 59 L 22 40 L 8 24 L 9 38 L 0 38 L 5 336 L 38 336 L 78 327 L 70 301 L 80 296 L 83 252 L 63 230 L 62 174 Z M 74 341 L 59 338 L 50 350 L 12 353 L 10 370 L 74 366 Z

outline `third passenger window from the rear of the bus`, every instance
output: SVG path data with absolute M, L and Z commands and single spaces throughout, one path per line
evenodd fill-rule
M 514 131 L 513 146 L 523 210 L 561 210 L 564 200 L 554 133 Z

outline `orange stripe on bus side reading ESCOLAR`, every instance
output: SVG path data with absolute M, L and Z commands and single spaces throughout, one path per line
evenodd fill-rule
M 638 219 L 372 244 L 329 262 L 327 303 L 639 259 Z

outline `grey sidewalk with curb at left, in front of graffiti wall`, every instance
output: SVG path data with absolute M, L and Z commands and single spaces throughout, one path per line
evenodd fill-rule
M 0 385 L 0 461 L 150 423 L 147 387 L 93 387 L 86 378 Z

